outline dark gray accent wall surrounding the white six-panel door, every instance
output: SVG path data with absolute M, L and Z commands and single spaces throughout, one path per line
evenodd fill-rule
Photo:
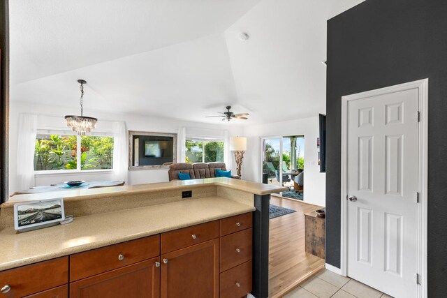
M 428 293 L 447 292 L 447 1 L 367 0 L 328 21 L 326 262 L 340 265 L 341 98 L 429 78 Z

